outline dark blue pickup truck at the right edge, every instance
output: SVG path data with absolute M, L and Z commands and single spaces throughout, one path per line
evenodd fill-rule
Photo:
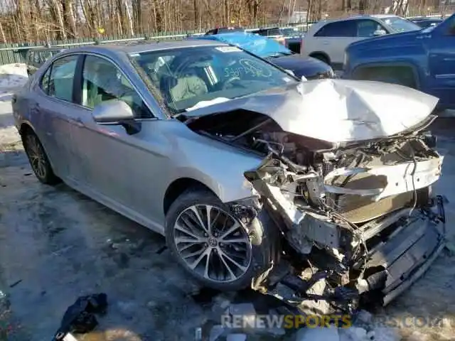
M 439 109 L 455 109 L 455 14 L 422 31 L 350 44 L 343 78 L 413 87 L 439 97 Z

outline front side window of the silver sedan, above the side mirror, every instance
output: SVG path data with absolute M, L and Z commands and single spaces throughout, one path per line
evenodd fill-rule
M 131 82 L 114 64 L 104 58 L 87 55 L 82 70 L 82 105 L 93 109 L 109 99 L 127 103 L 138 119 L 153 117 Z

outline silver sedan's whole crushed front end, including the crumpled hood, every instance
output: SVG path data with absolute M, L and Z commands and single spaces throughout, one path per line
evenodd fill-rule
M 266 212 L 282 253 L 253 288 L 349 312 L 386 305 L 432 264 L 445 238 L 432 193 L 443 157 L 427 131 L 437 102 L 399 85 L 315 80 L 187 114 L 193 131 L 262 159 L 245 172 L 257 204 L 240 211 Z

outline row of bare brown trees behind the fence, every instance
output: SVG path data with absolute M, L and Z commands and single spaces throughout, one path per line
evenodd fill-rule
M 378 13 L 387 0 L 1 0 L 3 42 L 134 36 L 215 26 L 271 26 L 306 11 L 306 21 L 349 13 Z M 390 0 L 389 0 L 390 1 Z M 393 0 L 404 15 L 439 9 L 439 0 Z M 446 5 L 449 6 L 449 5 Z M 454 11 L 447 8 L 446 11 Z

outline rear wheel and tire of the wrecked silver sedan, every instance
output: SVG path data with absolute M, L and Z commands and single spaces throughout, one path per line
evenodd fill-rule
M 55 185 L 61 180 L 55 175 L 47 154 L 44 151 L 38 136 L 31 130 L 27 129 L 21 134 L 23 148 L 26 151 L 30 166 L 35 173 L 36 178 L 46 185 Z M 40 155 L 38 156 L 37 153 Z M 39 160 L 38 160 L 39 158 Z M 38 164 L 39 163 L 39 164 Z

